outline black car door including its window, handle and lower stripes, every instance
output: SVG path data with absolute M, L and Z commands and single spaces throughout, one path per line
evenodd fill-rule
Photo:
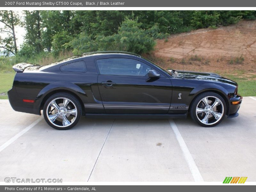
M 98 87 L 106 113 L 167 113 L 172 97 L 172 84 L 161 74 L 150 78 L 152 67 L 133 58 L 96 60 Z

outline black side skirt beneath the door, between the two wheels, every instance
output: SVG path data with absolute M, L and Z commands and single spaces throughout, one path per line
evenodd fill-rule
M 121 118 L 121 119 L 186 119 L 188 113 L 183 114 L 93 114 L 86 113 L 88 118 Z

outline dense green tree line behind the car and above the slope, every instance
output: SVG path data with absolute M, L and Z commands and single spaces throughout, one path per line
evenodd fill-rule
M 27 33 L 20 54 L 26 57 L 33 57 L 38 52 L 46 55 L 52 52 L 57 56 L 66 50 L 73 50 L 75 54 L 100 50 L 144 53 L 153 49 L 154 39 L 166 37 L 167 33 L 229 25 L 241 19 L 256 19 L 256 11 L 238 10 L 45 10 L 24 13 Z M 15 53 L 11 35 L 4 40 L 0 37 L 0 41 L 4 45 L 7 42 L 5 47 Z

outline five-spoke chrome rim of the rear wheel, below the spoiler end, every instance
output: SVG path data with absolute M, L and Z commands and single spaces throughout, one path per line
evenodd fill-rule
M 49 122 L 57 127 L 68 127 L 77 117 L 77 108 L 71 100 L 60 97 L 53 99 L 46 108 Z

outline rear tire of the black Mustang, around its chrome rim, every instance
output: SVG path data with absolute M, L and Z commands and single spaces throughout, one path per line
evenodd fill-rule
M 66 108 L 65 108 L 66 112 L 64 111 L 64 108 L 63 108 L 64 107 L 64 99 L 66 99 L 68 101 L 68 104 L 66 105 Z M 60 103 L 61 100 L 63 100 L 63 104 Z M 52 103 L 52 101 L 55 101 L 55 103 L 57 104 L 57 108 L 59 108 L 61 110 L 57 110 L 57 108 L 52 107 L 52 104 L 50 105 L 50 103 Z M 61 107 L 61 105 L 62 105 L 62 107 Z M 62 110 L 62 108 L 63 108 L 63 110 Z M 58 115 L 57 113 L 60 114 L 55 118 L 54 121 L 50 120 L 50 118 L 52 118 L 52 116 L 53 116 L 52 111 L 55 112 L 55 114 L 53 114 L 53 115 L 57 116 Z M 75 111 L 76 111 L 76 114 L 75 114 Z M 81 114 L 82 114 L 82 108 L 81 108 L 81 104 L 80 104 L 79 100 L 76 97 L 74 97 L 72 94 L 60 92 L 60 93 L 56 93 L 56 94 L 52 95 L 51 97 L 49 97 L 46 100 L 46 102 L 44 103 L 43 114 L 44 114 L 44 119 L 45 119 L 46 123 L 49 124 L 54 129 L 68 130 L 68 129 L 74 127 L 80 120 Z M 65 120 L 64 120 L 64 118 L 65 118 Z M 61 122 L 61 119 L 62 119 L 62 122 Z M 71 119 L 71 120 L 69 121 L 69 119 Z M 68 124 L 67 122 L 69 122 L 70 124 Z

